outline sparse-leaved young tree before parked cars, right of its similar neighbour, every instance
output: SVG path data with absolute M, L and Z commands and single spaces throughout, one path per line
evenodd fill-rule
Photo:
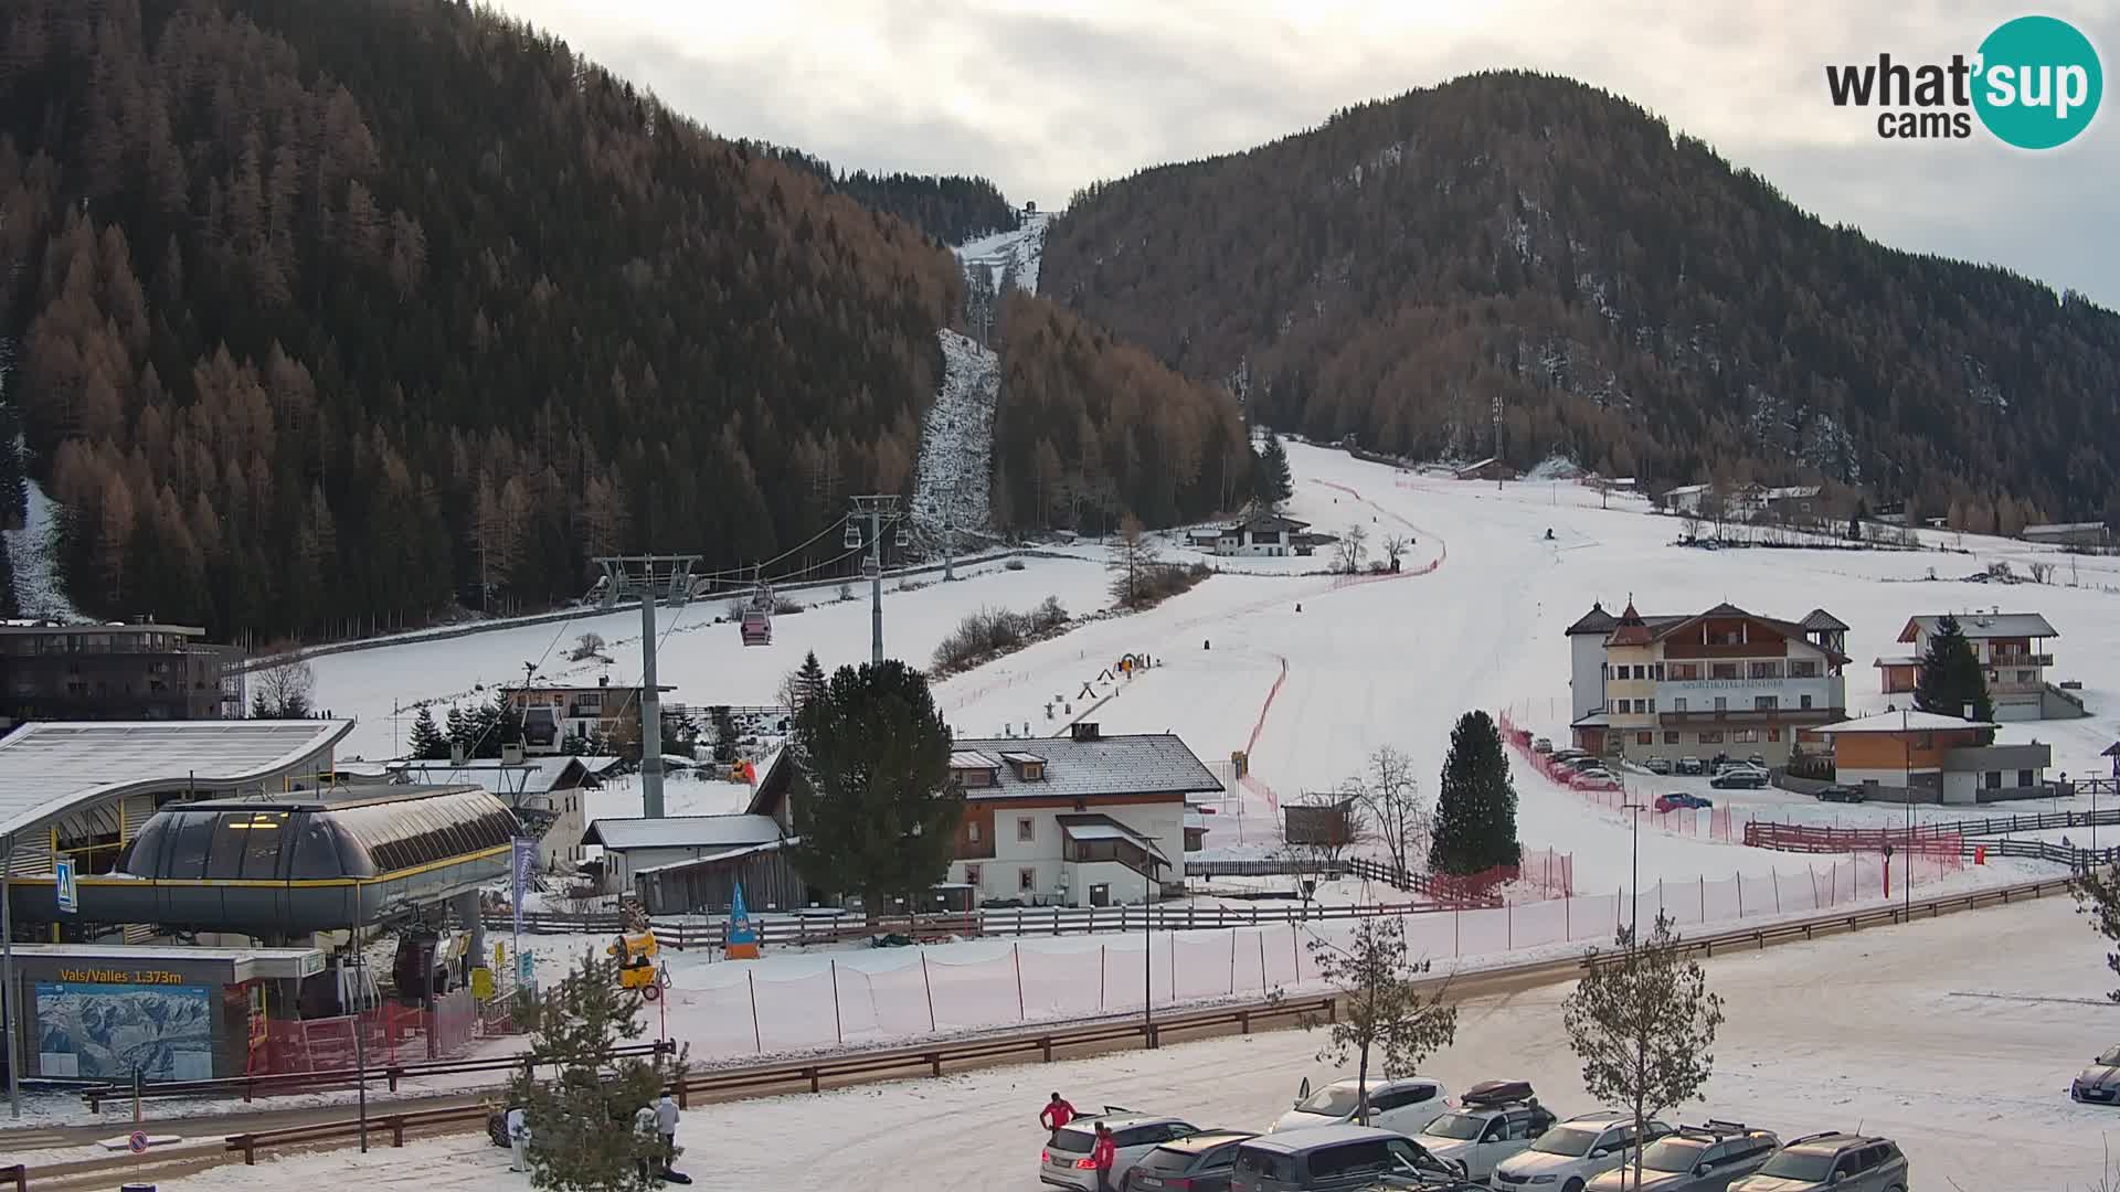
M 1584 957 L 1584 978 L 1562 1003 L 1562 1029 L 1584 1060 L 1584 1090 L 1632 1114 L 1641 1135 L 1649 1118 L 1707 1086 L 1721 997 L 1707 993 L 1700 961 L 1685 959 L 1662 912 L 1647 940 L 1622 927 L 1618 952 L 1592 948 Z M 1632 1186 L 1641 1188 L 1641 1147 Z

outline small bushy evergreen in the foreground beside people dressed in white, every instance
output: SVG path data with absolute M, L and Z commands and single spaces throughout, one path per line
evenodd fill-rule
M 509 1082 L 509 1103 L 530 1124 L 530 1186 L 553 1192 L 644 1192 L 640 1175 L 657 1143 L 632 1128 L 634 1111 L 653 1105 L 685 1071 L 685 1056 L 608 1058 L 644 1033 L 640 995 L 619 988 L 615 959 L 585 952 L 558 984 L 524 997 L 515 1022 L 530 1037 L 532 1065 Z M 536 1073 L 553 1071 L 551 1080 Z

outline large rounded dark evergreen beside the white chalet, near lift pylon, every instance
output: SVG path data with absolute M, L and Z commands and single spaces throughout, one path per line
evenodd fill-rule
M 869 918 L 950 872 L 965 791 L 926 679 L 899 660 L 842 666 L 797 717 L 789 861 L 816 887 L 859 893 Z

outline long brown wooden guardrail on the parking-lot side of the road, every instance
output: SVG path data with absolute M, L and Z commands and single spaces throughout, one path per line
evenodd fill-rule
M 2018 882 L 2012 887 L 1997 887 L 1989 891 L 1974 891 L 1963 895 L 1948 895 L 1936 899 L 1921 899 L 1906 906 L 1880 906 L 1870 910 L 1855 910 L 1847 914 L 1819 914 L 1794 923 L 1777 923 L 1768 927 L 1749 927 L 1738 931 L 1721 931 L 1715 935 L 1700 935 L 1683 940 L 1688 954 L 1713 957 L 1717 950 L 1730 952 L 1734 948 L 1760 948 L 1770 944 L 1785 944 L 1794 940 L 1815 940 L 1819 935 L 1830 935 L 1838 931 L 1861 931 L 1868 927 L 1887 927 L 1895 923 L 1910 923 L 1914 918 L 1936 918 L 1942 914 L 1955 914 L 1961 910 L 1978 910 L 1984 906 L 2008 906 L 2012 901 L 2039 899 L 2069 891 L 2067 878 L 2052 878 L 2042 882 Z M 1590 957 L 1567 957 L 1560 961 L 1537 961 L 1526 965 L 1512 965 L 1501 969 L 1482 969 L 1476 974 L 1454 974 L 1450 978 L 1452 986 L 1465 997 L 1478 997 L 1482 988 L 1512 988 L 1526 980 L 1569 980 L 1579 974 L 1584 965 L 1594 963 Z M 933 1048 L 897 1048 L 884 1052 L 840 1052 L 831 1056 L 816 1056 L 803 1063 L 784 1065 L 753 1065 L 738 1069 L 721 1069 L 712 1073 L 689 1075 L 687 1080 L 672 1086 L 672 1094 L 681 1105 L 689 1107 L 693 1097 L 742 1097 L 757 1094 L 761 1090 L 787 1090 L 787 1088 L 810 1088 L 820 1092 L 825 1082 L 861 1082 L 861 1080 L 886 1080 L 899 1073 L 924 1071 L 926 1075 L 941 1075 L 948 1065 L 962 1065 L 975 1060 L 1005 1060 L 1013 1056 L 1030 1058 L 1037 1056 L 1041 1063 L 1052 1063 L 1054 1052 L 1077 1048 L 1077 1046 L 1102 1046 L 1141 1039 L 1145 1046 L 1158 1046 L 1164 1035 L 1177 1035 L 1187 1031 L 1204 1031 L 1217 1027 L 1236 1027 L 1244 1033 L 1259 1022 L 1287 1022 L 1304 1020 L 1319 1014 L 1327 1018 L 1336 1014 L 1338 1003 L 1331 997 L 1310 997 L 1310 999 L 1266 999 L 1247 1005 L 1221 1007 L 1211 1012 L 1174 1014 L 1166 1016 L 1153 1024 L 1130 1018 L 1126 1022 L 1092 1022 L 1083 1027 L 1062 1027 L 1052 1031 L 1011 1031 L 1005 1035 L 988 1035 L 982 1039 L 965 1039 L 956 1044 L 941 1044 Z M 227 1135 L 227 1152 L 240 1152 L 244 1162 L 254 1164 L 257 1154 L 278 1145 L 293 1143 L 314 1143 L 314 1141 L 337 1141 L 352 1139 L 363 1133 L 363 1128 L 377 1128 L 388 1133 L 392 1145 L 403 1145 L 405 1133 L 422 1126 L 456 1126 L 456 1124 L 483 1124 L 490 1107 L 485 1103 L 460 1105 L 447 1109 L 424 1109 L 411 1114 L 384 1114 L 371 1118 L 367 1124 L 360 1120 L 339 1120 L 339 1122 L 318 1122 L 310 1126 L 290 1126 L 284 1130 L 252 1130 L 242 1135 Z M 117 1164 L 127 1162 L 125 1158 L 114 1158 Z M 8 1169 L 0 1169 L 6 1175 Z M 28 1169 L 19 1169 L 17 1188 L 28 1188 Z

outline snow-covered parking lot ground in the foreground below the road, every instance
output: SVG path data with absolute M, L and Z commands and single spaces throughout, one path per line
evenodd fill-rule
M 1997 948 L 2010 940 L 2010 948 Z M 1796 1137 L 1868 1130 L 1895 1139 L 1921 1188 L 2042 1190 L 2092 1186 L 2120 1118 L 2073 1105 L 2069 1077 L 2120 1033 L 2103 999 L 2112 976 L 2065 901 L 1955 914 L 1810 946 L 1709 961 L 1726 999 L 1715 1075 L 1696 1105 L 1666 1118 L 1745 1120 Z M 1467 1001 L 1456 1044 L 1425 1071 L 1452 1088 L 1531 1080 L 1560 1114 L 1596 1105 L 1560 1031 L 1569 986 Z M 678 1162 L 717 1188 L 1030 1192 L 1039 1103 L 1168 1111 L 1198 1126 L 1264 1128 L 1304 1077 L 1338 1075 L 1319 1035 L 1249 1037 L 907 1080 L 818 1097 L 706 1105 L 678 1126 Z M 454 1137 L 377 1150 L 290 1156 L 165 1181 L 165 1192 L 297 1186 L 526 1188 L 507 1154 Z

